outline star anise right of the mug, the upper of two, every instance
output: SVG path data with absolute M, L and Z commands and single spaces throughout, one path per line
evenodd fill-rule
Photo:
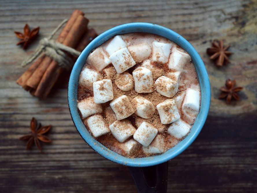
M 233 54 L 233 52 L 227 51 L 230 45 L 224 46 L 223 41 L 213 41 L 212 47 L 207 49 L 207 54 L 210 55 L 211 60 L 215 60 L 217 66 L 222 66 L 225 63 L 229 63 L 228 56 Z

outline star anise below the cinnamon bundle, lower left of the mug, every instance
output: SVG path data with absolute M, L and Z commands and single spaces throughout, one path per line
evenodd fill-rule
M 21 140 L 28 140 L 27 142 L 27 146 L 26 149 L 31 149 L 33 144 L 36 144 L 38 150 L 41 152 L 42 148 L 41 148 L 41 144 L 40 141 L 46 142 L 46 143 L 50 143 L 51 139 L 45 135 L 50 129 L 51 129 L 51 125 L 48 126 L 43 126 L 41 127 L 41 124 L 37 124 L 37 121 L 34 117 L 32 117 L 32 120 L 30 122 L 30 129 L 32 131 L 31 134 L 28 135 L 24 135 L 23 137 L 21 137 Z

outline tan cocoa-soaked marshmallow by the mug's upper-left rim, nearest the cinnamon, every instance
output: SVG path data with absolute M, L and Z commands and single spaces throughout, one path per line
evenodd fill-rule
M 101 71 L 111 63 L 109 56 L 105 53 L 102 47 L 98 47 L 88 55 L 87 63 L 95 69 Z

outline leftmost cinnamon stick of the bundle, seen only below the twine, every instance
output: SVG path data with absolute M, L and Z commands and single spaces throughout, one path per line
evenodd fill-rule
M 23 89 L 25 89 L 26 91 L 30 89 L 30 87 L 26 85 L 27 80 L 32 75 L 32 73 L 37 69 L 38 65 L 40 65 L 40 63 L 43 61 L 44 57 L 45 54 L 40 56 L 16 81 L 16 83 L 23 87 Z

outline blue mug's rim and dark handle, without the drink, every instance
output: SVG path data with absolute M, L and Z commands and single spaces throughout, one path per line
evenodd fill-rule
M 201 109 L 188 136 L 186 136 L 186 138 L 178 143 L 175 147 L 169 149 L 161 155 L 133 159 L 123 157 L 122 155 L 119 155 L 109 150 L 97 140 L 95 140 L 84 126 L 77 109 L 77 89 L 79 73 L 86 63 L 88 54 L 111 37 L 118 34 L 131 32 L 146 32 L 156 34 L 159 36 L 163 36 L 180 45 L 186 52 L 188 52 L 188 54 L 190 54 L 195 65 L 201 87 Z M 152 23 L 128 23 L 113 27 L 112 29 L 103 32 L 102 34 L 97 36 L 90 44 L 88 44 L 88 46 L 82 51 L 71 71 L 68 87 L 68 102 L 74 125 L 80 136 L 91 148 L 93 148 L 97 153 L 109 159 L 110 161 L 125 166 L 130 166 L 130 172 L 134 177 L 139 192 L 165 192 L 166 190 L 164 189 L 167 188 L 167 161 L 176 157 L 188 146 L 190 146 L 190 144 L 195 140 L 197 135 L 200 133 L 202 127 L 204 126 L 210 106 L 210 81 L 201 57 L 194 49 L 194 47 L 182 36 L 166 27 L 162 27 L 160 25 Z M 148 169 L 144 167 L 147 167 Z M 148 172 L 153 172 L 154 177 L 149 177 L 151 175 L 149 175 Z M 166 187 L 164 185 L 165 181 Z M 160 189 L 161 187 L 159 186 L 164 186 L 164 189 Z

